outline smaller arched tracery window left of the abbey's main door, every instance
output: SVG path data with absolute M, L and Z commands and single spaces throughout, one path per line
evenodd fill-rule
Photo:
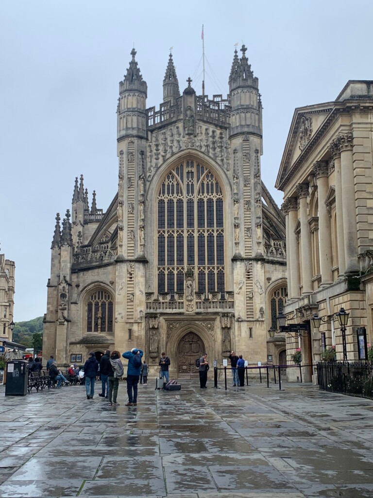
M 87 332 L 113 331 L 113 298 L 103 289 L 96 289 L 88 297 Z

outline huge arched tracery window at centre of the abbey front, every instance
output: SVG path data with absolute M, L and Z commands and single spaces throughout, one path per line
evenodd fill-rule
M 158 293 L 184 292 L 187 268 L 200 293 L 225 292 L 223 194 L 214 174 L 187 159 L 158 193 Z

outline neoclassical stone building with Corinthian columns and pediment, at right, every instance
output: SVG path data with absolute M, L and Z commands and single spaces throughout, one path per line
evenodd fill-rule
M 357 329 L 373 340 L 373 81 L 349 81 L 334 102 L 296 109 L 276 187 L 284 193 L 288 300 L 284 313 L 308 324 L 302 339 L 287 338 L 288 355 L 302 348 L 304 363 L 336 346 L 335 313 L 349 313 L 346 349 L 359 359 Z M 312 324 L 317 313 L 323 321 Z M 307 374 L 311 374 L 308 371 Z

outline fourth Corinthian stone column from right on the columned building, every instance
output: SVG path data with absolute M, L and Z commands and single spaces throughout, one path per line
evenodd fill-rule
M 307 196 L 308 183 L 299 183 L 296 187 L 299 199 L 300 244 L 302 250 L 303 294 L 313 291 L 312 288 L 312 245 L 308 225 Z

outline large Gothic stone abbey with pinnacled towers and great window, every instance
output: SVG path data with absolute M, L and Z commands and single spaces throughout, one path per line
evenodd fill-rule
M 56 217 L 46 358 L 67 365 L 138 346 L 153 372 L 166 351 L 178 374 L 204 351 L 219 365 L 232 349 L 255 363 L 284 354 L 267 331 L 287 296 L 285 222 L 261 180 L 261 96 L 241 52 L 226 99 L 197 95 L 190 78 L 180 94 L 170 54 L 156 110 L 132 50 L 119 83 L 118 190 L 103 212 L 77 178 L 62 227 Z

